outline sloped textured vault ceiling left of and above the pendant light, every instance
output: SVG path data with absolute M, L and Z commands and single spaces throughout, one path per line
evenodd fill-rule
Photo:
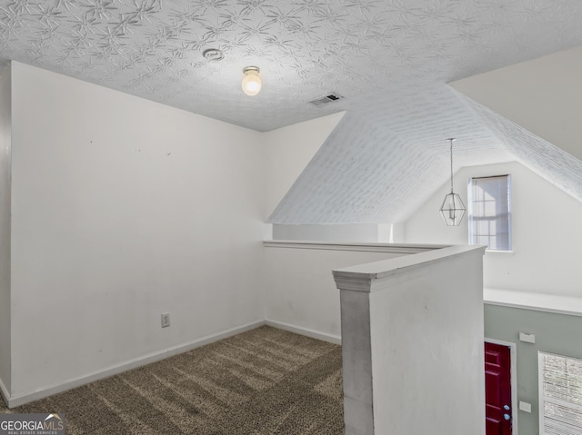
M 451 133 L 456 168 L 516 160 L 449 86 L 393 92 L 344 115 L 269 222 L 405 221 L 450 176 Z

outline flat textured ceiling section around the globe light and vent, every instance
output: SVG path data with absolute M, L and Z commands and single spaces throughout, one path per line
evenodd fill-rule
M 0 0 L 0 56 L 259 131 L 580 44 L 579 0 Z M 217 47 L 220 62 L 202 52 Z M 264 89 L 247 97 L 243 67 Z M 335 91 L 329 107 L 306 102 Z

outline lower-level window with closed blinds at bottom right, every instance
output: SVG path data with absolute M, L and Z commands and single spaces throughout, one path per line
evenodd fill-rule
M 582 360 L 539 352 L 540 435 L 582 435 Z

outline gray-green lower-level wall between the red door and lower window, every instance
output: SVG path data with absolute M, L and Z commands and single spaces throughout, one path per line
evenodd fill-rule
M 539 433 L 537 352 L 582 358 L 582 317 L 485 305 L 485 336 L 517 343 L 517 400 L 531 403 L 518 411 L 520 435 Z M 536 335 L 536 343 L 519 341 L 519 332 Z

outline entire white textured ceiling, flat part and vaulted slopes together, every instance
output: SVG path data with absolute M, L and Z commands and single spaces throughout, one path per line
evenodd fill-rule
M 447 86 L 578 44 L 580 0 L 0 0 L 0 59 L 258 131 L 347 110 L 271 222 L 406 219 L 447 181 L 448 137 L 457 166 L 517 159 L 580 192 L 579 161 Z

